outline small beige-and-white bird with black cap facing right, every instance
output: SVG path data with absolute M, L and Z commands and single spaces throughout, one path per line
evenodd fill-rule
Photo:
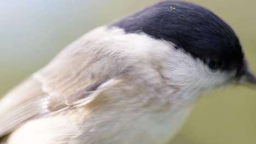
M 0 101 L 6 144 L 166 143 L 202 93 L 256 85 L 232 28 L 165 1 L 74 41 Z

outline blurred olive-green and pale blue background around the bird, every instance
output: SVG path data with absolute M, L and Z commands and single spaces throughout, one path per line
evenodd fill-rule
M 42 68 L 63 47 L 97 26 L 158 1 L 0 0 L 0 95 Z M 256 72 L 256 1 L 192 2 L 235 29 Z M 231 86 L 204 95 L 171 143 L 256 143 L 256 90 Z

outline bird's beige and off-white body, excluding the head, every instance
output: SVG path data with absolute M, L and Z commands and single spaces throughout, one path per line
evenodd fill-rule
M 124 31 L 118 28 L 95 29 L 69 45 L 47 67 L 5 97 L 1 101 L 1 110 L 15 110 L 12 105 L 16 106 L 18 101 L 21 103 L 19 105 L 28 104 L 26 109 L 38 110 L 39 113 L 39 116 L 31 118 L 14 131 L 9 143 L 163 143 L 170 139 L 190 110 L 190 105 L 178 109 L 175 103 L 189 103 L 198 92 L 180 94 L 178 87 L 167 85 L 161 78 L 162 69 L 159 66 L 165 63 L 160 63 L 167 61 L 163 61 L 163 58 L 168 54 L 168 49 L 175 52 L 173 47 L 159 40 L 152 41 L 147 35 L 137 37 L 136 34 L 123 34 Z M 124 46 L 123 43 L 129 45 Z M 101 47 L 95 49 L 94 45 L 98 44 Z M 140 47 L 133 50 L 135 45 Z M 159 45 L 162 46 L 159 48 Z M 98 58 L 90 57 L 94 53 L 98 53 Z M 183 58 L 186 58 L 185 55 Z M 176 59 L 173 57 L 169 61 Z M 89 67 L 91 63 L 94 63 L 93 67 Z M 113 69 L 120 71 L 113 72 Z M 72 104 L 74 101 L 69 97 L 80 99 L 76 93 L 98 82 L 104 82 L 102 85 L 106 86 L 91 93 L 102 91 L 102 94 L 85 106 Z M 37 91 L 27 93 L 31 89 Z M 24 96 L 22 101 L 13 101 L 21 93 L 26 93 L 20 96 Z M 170 97 L 170 100 L 166 101 L 164 96 Z M 25 99 L 36 100 L 23 101 Z M 67 107 L 71 105 L 75 107 Z M 19 113 L 14 111 L 13 114 Z M 28 135 L 34 136 L 26 139 Z

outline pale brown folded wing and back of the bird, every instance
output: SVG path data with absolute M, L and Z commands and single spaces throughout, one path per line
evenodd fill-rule
M 121 73 L 120 59 L 104 47 L 85 35 L 5 95 L 0 101 L 0 137 L 34 116 L 84 103 L 98 86 Z

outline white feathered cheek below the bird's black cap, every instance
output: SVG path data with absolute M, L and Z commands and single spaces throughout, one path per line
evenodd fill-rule
M 170 55 L 167 69 L 163 71 L 168 85 L 207 91 L 223 86 L 230 79 L 230 74 L 213 71 L 200 59 L 181 50 L 173 49 Z

